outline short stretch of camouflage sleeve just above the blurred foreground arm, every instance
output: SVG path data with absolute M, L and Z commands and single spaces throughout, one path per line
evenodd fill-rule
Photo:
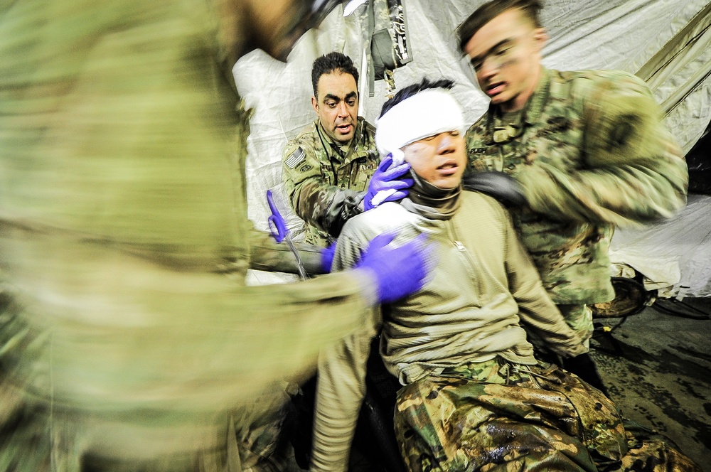
M 307 274 L 326 273 L 321 267 L 322 247 L 305 242 L 294 242 L 294 247 Z M 250 232 L 250 269 L 299 274 L 296 256 L 287 243 L 277 243 L 269 233 L 258 230 Z

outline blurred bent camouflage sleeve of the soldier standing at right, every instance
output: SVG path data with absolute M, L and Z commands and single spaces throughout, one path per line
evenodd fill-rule
M 580 80 L 584 154 L 579 170 L 530 166 L 523 191 L 533 210 L 561 220 L 630 225 L 669 218 L 686 204 L 688 168 L 648 87 L 616 73 Z

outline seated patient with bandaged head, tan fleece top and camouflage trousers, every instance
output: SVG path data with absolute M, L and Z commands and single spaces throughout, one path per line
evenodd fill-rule
M 346 223 L 333 268 L 353 266 L 389 232 L 394 245 L 428 235 L 436 266 L 421 291 L 383 306 L 380 326 L 321 352 L 311 471 L 346 470 L 378 330 L 380 354 L 402 384 L 395 434 L 412 471 L 697 470 L 662 441 L 635 441 L 599 390 L 534 357 L 522 325 L 564 358 L 585 348 L 506 209 L 461 191 L 465 127 L 450 87 L 423 80 L 383 105 L 378 150 L 410 163 L 415 185 L 400 203 Z

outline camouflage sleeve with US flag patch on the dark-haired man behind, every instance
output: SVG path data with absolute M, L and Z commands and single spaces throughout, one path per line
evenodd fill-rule
M 309 143 L 296 139 L 284 149 L 282 178 L 292 207 L 302 220 L 338 237 L 348 218 L 363 212 L 365 192 L 332 185 L 331 163 Z

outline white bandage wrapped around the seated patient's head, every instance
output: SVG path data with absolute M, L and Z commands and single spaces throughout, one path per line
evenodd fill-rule
M 449 90 L 423 90 L 396 104 L 375 122 L 375 146 L 381 159 L 392 154 L 392 164 L 401 164 L 400 149 L 435 134 L 458 131 L 464 134 L 464 114 Z

